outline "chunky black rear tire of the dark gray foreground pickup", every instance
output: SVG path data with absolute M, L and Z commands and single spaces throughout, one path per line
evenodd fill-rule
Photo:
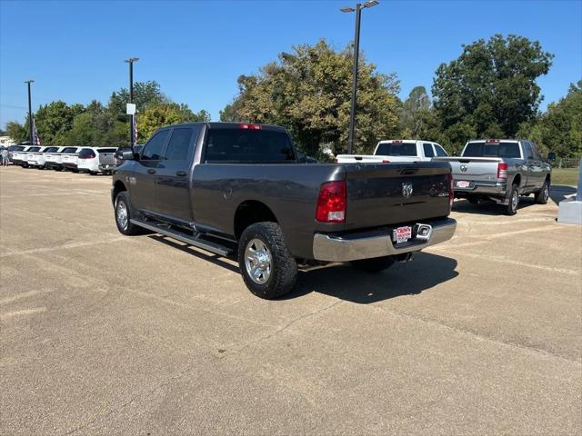
M 268 268 L 266 262 L 262 264 L 266 269 L 256 267 L 256 271 L 262 271 L 259 272 L 262 274 L 262 279 L 261 275 L 256 278 L 251 276 L 252 267 L 258 264 L 258 260 L 249 260 L 248 266 L 246 263 L 247 249 L 252 250 L 253 242 L 256 240 L 264 244 L 266 252 L 257 250 L 255 247 L 255 253 L 266 253 L 266 259 L 268 259 Z M 246 287 L 257 297 L 266 300 L 290 292 L 297 280 L 296 260 L 289 253 L 283 231 L 277 223 L 255 223 L 246 227 L 238 241 L 238 265 Z

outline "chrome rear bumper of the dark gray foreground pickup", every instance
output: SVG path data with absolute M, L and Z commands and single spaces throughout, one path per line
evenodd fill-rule
M 402 246 L 396 246 L 392 242 L 391 229 L 383 232 L 341 235 L 316 233 L 313 239 L 313 255 L 317 261 L 348 262 L 418 252 L 431 245 L 448 241 L 457 229 L 457 221 L 452 218 L 427 224 L 432 227 L 432 231 L 426 239 L 415 237 Z

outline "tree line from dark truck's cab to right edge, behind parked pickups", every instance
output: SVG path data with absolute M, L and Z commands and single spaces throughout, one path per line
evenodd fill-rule
M 433 99 L 417 86 L 401 102 L 396 74 L 381 74 L 360 55 L 356 153 L 371 153 L 378 140 L 417 138 L 458 152 L 469 139 L 528 137 L 562 157 L 582 154 L 581 83 L 539 113 L 537 78 L 553 54 L 517 35 L 494 35 L 463 45 L 459 57 L 438 66 Z M 299 148 L 321 157 L 345 153 L 352 86 L 352 51 L 325 40 L 297 45 L 292 53 L 238 78 L 238 94 L 222 121 L 281 124 Z

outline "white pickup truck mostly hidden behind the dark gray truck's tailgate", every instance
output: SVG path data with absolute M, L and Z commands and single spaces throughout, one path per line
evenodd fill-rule
M 374 154 L 337 154 L 336 163 L 427 162 L 435 156 L 448 156 L 443 147 L 431 141 L 393 139 L 380 141 Z

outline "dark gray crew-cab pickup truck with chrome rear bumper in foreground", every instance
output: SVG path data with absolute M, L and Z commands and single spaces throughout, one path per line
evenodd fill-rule
M 448 163 L 308 163 L 282 127 L 178 124 L 126 149 L 113 175 L 120 233 L 161 233 L 236 255 L 251 292 L 275 298 L 298 263 L 379 272 L 447 241 Z

